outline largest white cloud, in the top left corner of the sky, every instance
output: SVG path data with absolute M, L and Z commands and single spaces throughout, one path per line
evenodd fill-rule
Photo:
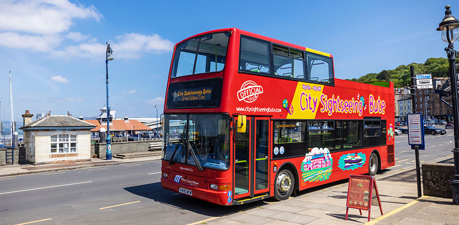
M 74 18 L 94 18 L 102 15 L 94 6 L 85 7 L 68 0 L 2 0 L 0 30 L 54 34 L 68 31 Z

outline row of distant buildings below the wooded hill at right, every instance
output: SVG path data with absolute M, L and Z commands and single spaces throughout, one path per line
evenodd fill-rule
M 440 101 L 440 95 L 435 90 L 441 88 L 446 78 L 433 78 L 433 88 L 416 90 L 415 110 L 421 113 L 425 119 L 446 119 L 451 121 L 452 109 Z M 412 97 L 408 87 L 395 88 L 395 121 L 406 121 L 408 113 L 412 110 Z M 443 100 L 451 105 L 451 96 L 443 97 Z

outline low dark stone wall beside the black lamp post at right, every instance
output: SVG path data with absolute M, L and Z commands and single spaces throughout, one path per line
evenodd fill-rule
M 454 176 L 454 164 L 423 163 L 424 195 L 452 198 L 451 184 Z

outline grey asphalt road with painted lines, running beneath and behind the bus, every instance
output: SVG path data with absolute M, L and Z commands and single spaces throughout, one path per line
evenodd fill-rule
M 451 132 L 425 137 L 422 161 L 452 154 Z M 396 136 L 395 143 L 391 169 L 414 165 L 407 136 Z M 151 161 L 0 178 L 0 224 L 190 224 L 266 204 L 210 204 L 162 189 L 159 177 L 160 161 Z

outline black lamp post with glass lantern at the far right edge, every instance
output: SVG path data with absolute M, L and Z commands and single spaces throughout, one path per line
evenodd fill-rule
M 441 20 L 437 31 L 441 31 L 441 40 L 448 43 L 445 51 L 448 55 L 449 73 L 451 80 L 452 105 L 453 105 L 453 128 L 454 128 L 454 177 L 451 180 L 453 204 L 459 205 L 459 101 L 458 101 L 458 77 L 456 74 L 456 56 L 453 42 L 459 38 L 459 20 L 451 15 L 450 5 L 445 6 L 445 16 Z

